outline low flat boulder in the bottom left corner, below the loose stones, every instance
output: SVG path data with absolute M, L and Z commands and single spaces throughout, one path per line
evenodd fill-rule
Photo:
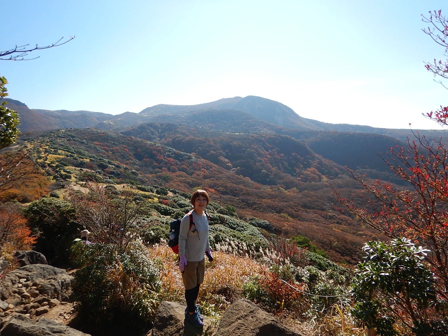
M 0 330 L 1 336 L 88 336 L 84 332 L 43 317 L 30 319 L 16 314 Z

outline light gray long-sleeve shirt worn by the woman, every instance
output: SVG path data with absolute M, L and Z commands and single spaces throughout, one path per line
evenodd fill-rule
M 204 258 L 204 251 L 210 250 L 207 215 L 204 213 L 200 216 L 193 211 L 193 222 L 194 225 L 189 230 L 188 214 L 182 218 L 179 231 L 179 255 L 185 255 L 187 261 L 201 261 Z

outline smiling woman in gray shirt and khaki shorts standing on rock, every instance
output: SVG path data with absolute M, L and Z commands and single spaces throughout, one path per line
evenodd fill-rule
M 185 319 L 196 327 L 204 325 L 203 317 L 196 305 L 199 286 L 204 281 L 204 252 L 210 261 L 213 260 L 208 241 L 208 215 L 205 212 L 209 200 L 205 190 L 196 190 L 191 195 L 193 210 L 190 212 L 193 215 L 194 224 L 190 227 L 190 213 L 186 214 L 182 218 L 179 232 L 179 269 L 184 281 L 187 302 Z

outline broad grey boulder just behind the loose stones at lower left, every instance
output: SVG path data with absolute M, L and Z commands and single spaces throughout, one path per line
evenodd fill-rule
M 28 293 L 45 295 L 60 301 L 69 301 L 73 277 L 67 271 L 50 265 L 33 264 L 9 272 L 0 284 L 0 299 L 7 300 L 15 295 L 17 286 L 26 287 Z M 22 286 L 21 286 L 22 285 Z M 34 294 L 32 294 L 34 295 Z

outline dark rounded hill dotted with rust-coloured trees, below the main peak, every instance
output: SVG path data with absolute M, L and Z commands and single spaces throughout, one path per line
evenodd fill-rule
M 213 132 L 201 127 L 144 124 L 124 135 L 156 141 L 250 177 L 264 185 L 301 187 L 300 182 L 321 182 L 345 174 L 345 169 L 323 159 L 304 142 L 280 134 Z

